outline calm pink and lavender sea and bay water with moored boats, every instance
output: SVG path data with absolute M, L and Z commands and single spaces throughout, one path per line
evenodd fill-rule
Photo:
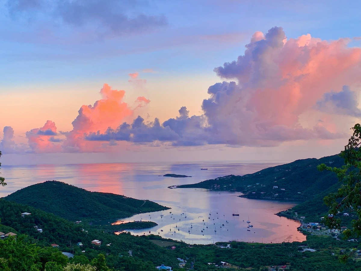
M 244 175 L 274 165 L 277 163 L 197 162 L 4 166 L 2 176 L 5 177 L 8 185 L 0 189 L 0 196 L 4 197 L 39 182 L 57 180 L 90 191 L 149 199 L 171 208 L 163 212 L 139 214 L 122 219 L 124 222 L 149 220 L 158 224 L 151 229 L 130 231 L 135 235 L 149 234 L 150 230 L 152 234 L 183 240 L 190 244 L 209 244 L 229 240 L 265 243 L 304 241 L 305 236 L 296 229 L 299 223 L 274 215 L 291 208 L 295 205 L 294 203 L 240 198 L 238 197 L 240 193 L 235 192 L 168 188 L 171 185 L 192 184 L 230 174 Z M 208 168 L 208 170 L 200 170 L 200 168 Z M 163 177 L 166 173 L 192 177 Z M 237 213 L 239 216 L 232 216 L 232 213 Z M 248 219 L 253 227 L 247 228 Z

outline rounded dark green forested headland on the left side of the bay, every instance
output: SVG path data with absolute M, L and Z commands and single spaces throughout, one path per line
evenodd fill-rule
M 111 193 L 89 192 L 58 181 L 31 185 L 4 199 L 33 206 L 71 221 L 125 218 L 168 209 L 152 201 Z

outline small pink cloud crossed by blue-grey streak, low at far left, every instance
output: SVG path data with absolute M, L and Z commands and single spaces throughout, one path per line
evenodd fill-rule
M 56 135 L 55 122 L 51 120 L 48 120 L 41 128 L 31 129 L 29 132 L 26 132 L 31 152 L 60 152 L 61 145 L 57 143 L 60 140 L 54 137 Z

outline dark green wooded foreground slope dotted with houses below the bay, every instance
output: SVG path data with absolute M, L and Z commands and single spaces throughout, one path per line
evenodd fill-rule
M 31 215 L 22 218 L 22 211 L 31 212 Z M 154 235 L 132 236 L 122 233 L 117 236 L 104 233 L 89 225 L 78 225 L 34 207 L 5 200 L 0 200 L 0 217 L 1 223 L 4 224 L 0 230 L 4 227 L 8 227 L 6 228 L 8 230 L 12 226 L 14 232 L 28 235 L 18 235 L 16 242 L 13 238 L 0 240 L 0 270 L 6 271 L 60 271 L 68 262 L 82 263 L 83 265 L 92 263 L 93 266 L 96 263 L 106 263 L 107 266 L 96 270 L 108 270 L 109 267 L 119 271 L 153 271 L 155 266 L 160 264 L 171 266 L 172 270 L 182 270 L 178 267 L 177 258 L 187 260 L 186 269 L 190 268 L 191 262 L 194 261 L 194 270 L 219 270 L 215 264 L 220 265 L 221 261 L 238 266 L 240 270 L 248 271 L 265 271 L 269 270 L 270 266 L 286 264 L 288 270 L 292 271 L 322 271 L 329 270 L 330 266 L 335 270 L 345 271 L 361 268 L 361 262 L 355 261 L 354 258 L 349 259 L 345 264 L 338 261 L 339 255 L 357 248 L 357 242 L 340 241 L 326 236 L 309 235 L 307 241 L 302 243 L 257 244 L 232 241 L 216 245 L 189 246 L 184 242 L 166 240 Z M 37 233 L 34 231 L 33 225 L 40 221 L 43 232 Z M 85 231 L 81 227 L 84 227 Z M 92 245 L 93 239 L 102 241 L 102 244 L 100 246 Z M 82 242 L 84 246 L 79 248 L 75 245 L 77 241 Z M 50 244 L 53 242 L 60 245 L 62 251 L 73 252 L 74 250 L 74 259 L 66 259 L 58 249 L 51 248 Z M 167 245 L 160 246 L 162 242 Z M 226 244 L 230 244 L 230 248 L 221 247 Z M 170 246 L 173 245 L 175 249 L 171 250 Z M 301 245 L 317 251 L 302 253 L 299 247 Z M 129 251 L 132 252 L 132 256 Z M 209 265 L 208 263 L 215 264 Z M 47 268 L 52 264 L 60 269 Z M 8 269 L 5 269 L 4 266 Z

